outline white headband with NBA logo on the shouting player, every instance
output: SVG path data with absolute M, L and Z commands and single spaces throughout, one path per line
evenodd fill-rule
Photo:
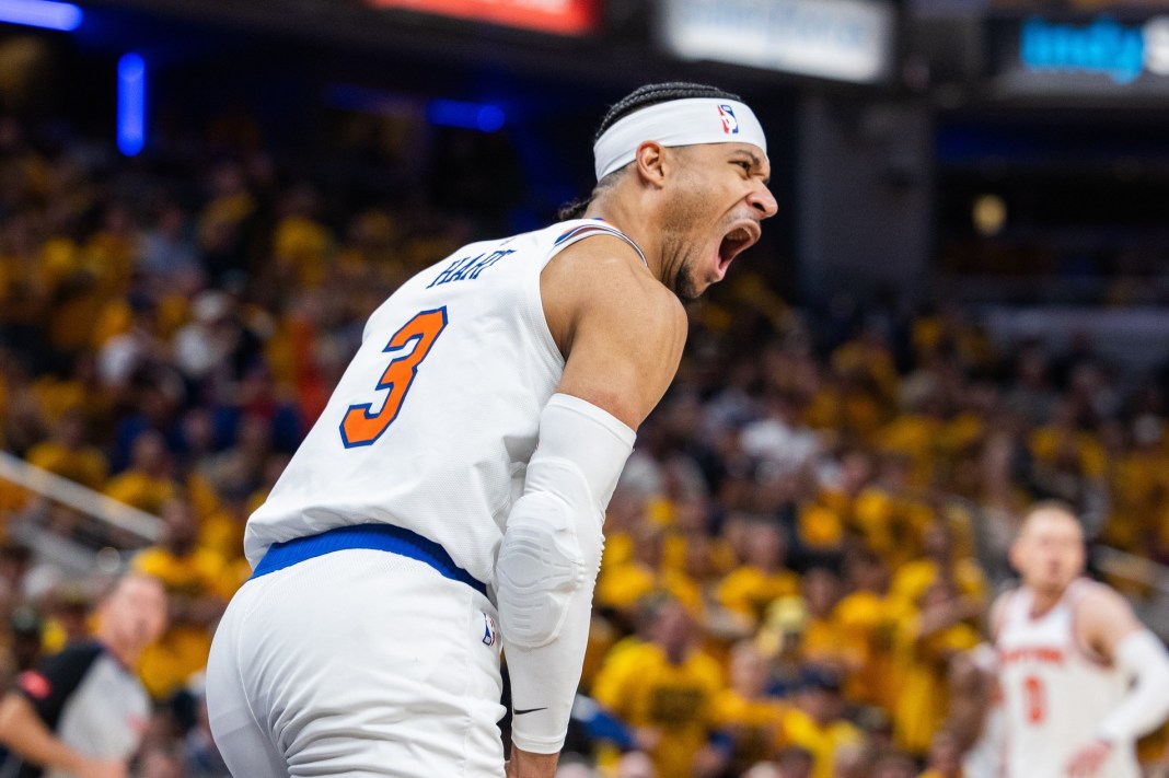
M 754 144 L 767 153 L 763 127 L 749 107 L 738 100 L 692 97 L 634 111 L 606 130 L 593 145 L 596 180 L 632 162 L 646 140 L 663 146 Z

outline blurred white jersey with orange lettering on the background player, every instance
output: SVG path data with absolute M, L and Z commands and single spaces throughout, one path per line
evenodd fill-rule
M 1074 634 L 1074 611 L 1100 584 L 1072 583 L 1046 613 L 1032 617 L 1032 595 L 1007 595 L 995 640 L 1005 717 L 1008 778 L 1065 778 L 1072 756 L 1098 736 L 1098 727 L 1129 687 L 1116 667 L 1090 657 Z M 1139 778 L 1133 743 L 1115 743 L 1098 778 Z

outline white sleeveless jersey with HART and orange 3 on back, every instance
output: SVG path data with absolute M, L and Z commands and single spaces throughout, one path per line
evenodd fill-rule
M 637 248 L 600 220 L 563 222 L 472 243 L 394 292 L 248 520 L 251 565 L 275 542 L 383 522 L 438 543 L 490 583 L 540 412 L 565 367 L 544 317 L 540 272 L 594 235 Z

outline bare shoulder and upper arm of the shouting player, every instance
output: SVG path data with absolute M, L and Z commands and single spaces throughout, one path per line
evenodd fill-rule
M 558 391 L 636 429 L 673 380 L 686 311 L 636 250 L 599 235 L 556 255 L 540 276 L 545 318 L 565 355 Z

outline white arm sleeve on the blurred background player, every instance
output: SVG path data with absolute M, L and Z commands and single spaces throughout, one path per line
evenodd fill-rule
M 1156 635 L 1141 630 L 1120 641 L 1115 661 L 1135 683 L 1099 731 L 1106 741 L 1130 743 L 1169 715 L 1169 653 Z

